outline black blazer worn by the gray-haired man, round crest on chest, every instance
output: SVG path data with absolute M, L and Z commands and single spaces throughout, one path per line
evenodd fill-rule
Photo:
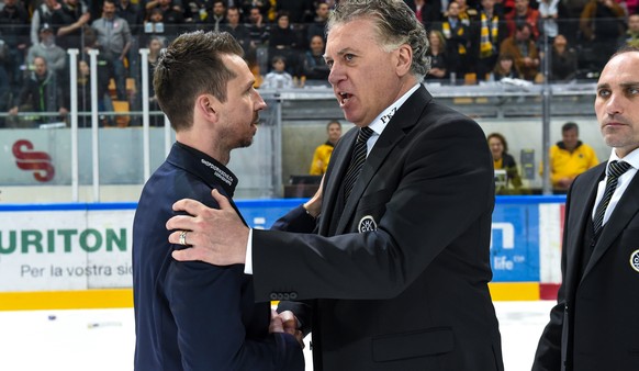
M 257 300 L 320 297 L 285 304 L 312 330 L 316 371 L 503 370 L 487 289 L 494 183 L 483 132 L 421 87 L 343 209 L 356 135 L 333 151 L 318 234 L 254 231 Z

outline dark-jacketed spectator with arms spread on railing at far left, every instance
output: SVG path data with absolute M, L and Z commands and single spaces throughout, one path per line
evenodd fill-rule
M 63 89 L 55 75 L 47 69 L 46 59 L 35 57 L 34 70 L 25 79 L 20 94 L 15 99 L 10 114 L 16 115 L 19 111 L 53 113 L 59 117 L 66 117 L 68 110 L 65 104 Z M 51 122 L 49 116 L 37 116 L 35 123 Z

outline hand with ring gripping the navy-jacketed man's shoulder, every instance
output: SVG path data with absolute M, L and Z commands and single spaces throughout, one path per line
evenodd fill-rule
M 248 227 L 217 190 L 211 192 L 220 204 L 220 210 L 210 209 L 202 203 L 183 199 L 173 204 L 175 211 L 184 211 L 189 215 L 176 215 L 167 222 L 169 243 L 180 244 L 180 234 L 186 248 L 176 250 L 172 257 L 179 261 L 201 260 L 215 266 L 245 263 Z M 191 216 L 192 215 L 192 216 Z

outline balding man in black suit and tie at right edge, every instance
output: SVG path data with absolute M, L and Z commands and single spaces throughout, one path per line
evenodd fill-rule
M 565 200 L 562 284 L 532 370 L 639 370 L 639 49 L 615 54 L 595 112 L 608 161 Z

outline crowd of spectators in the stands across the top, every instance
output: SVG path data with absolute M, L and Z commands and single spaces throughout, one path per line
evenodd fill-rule
M 159 49 L 194 29 L 233 34 L 257 86 L 271 87 L 271 79 L 277 88 L 327 85 L 324 26 L 335 1 L 3 0 L 0 111 L 67 112 L 69 48 L 80 50 L 79 111 L 90 106 L 91 49 L 99 50 L 99 110 L 112 111 L 114 101 L 138 110 L 138 49 L 154 48 L 153 71 Z M 593 78 L 617 47 L 639 44 L 639 0 L 405 1 L 429 32 L 433 70 L 426 80 L 431 82 Z M 60 91 L 63 97 L 44 95 Z M 149 97 L 157 110 L 153 92 Z M 101 124 L 114 122 L 107 117 Z

